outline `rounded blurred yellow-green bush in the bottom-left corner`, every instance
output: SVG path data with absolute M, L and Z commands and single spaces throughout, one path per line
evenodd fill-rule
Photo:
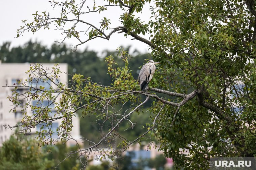
M 38 152 L 36 141 L 21 135 L 12 135 L 0 148 L 0 169 L 31 169 L 44 170 L 52 166 L 53 162 L 43 159 L 43 154 Z

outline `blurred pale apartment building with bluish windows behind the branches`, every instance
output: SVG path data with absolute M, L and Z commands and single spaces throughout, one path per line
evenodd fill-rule
M 41 63 L 43 67 L 51 68 L 54 66 L 52 63 Z M 62 83 L 66 83 L 68 81 L 68 65 L 66 63 L 59 64 L 60 71 L 62 72 L 59 77 L 59 81 Z M 30 69 L 30 63 L 1 63 L 0 62 L 0 146 L 2 143 L 7 140 L 10 135 L 15 132 L 15 129 L 10 130 L 3 127 L 3 125 L 9 124 L 14 126 L 15 124 L 20 122 L 22 118 L 22 107 L 17 108 L 15 113 L 10 112 L 12 103 L 7 99 L 8 96 L 12 94 L 12 87 L 3 87 L 3 86 L 11 86 L 13 83 L 17 83 L 19 80 L 28 79 L 28 74 L 26 71 Z M 49 84 L 47 84 L 49 83 Z M 51 82 L 39 84 L 45 88 L 50 87 Z M 33 84 L 32 84 L 33 86 Z M 37 84 L 38 86 L 38 84 Z M 21 93 L 26 91 L 26 88 L 19 88 L 18 91 Z M 60 100 L 60 99 L 57 99 Z M 32 101 L 31 105 L 35 105 L 37 101 Z M 46 102 L 42 102 L 41 105 L 46 105 Z M 54 106 L 52 106 L 53 113 L 55 112 Z M 26 112 L 31 113 L 31 110 L 27 109 Z M 52 124 L 52 130 L 56 131 L 57 127 L 59 127 L 62 120 L 55 120 Z M 81 141 L 80 128 L 79 128 L 79 116 L 72 118 L 73 128 L 71 131 L 71 136 L 76 139 L 78 142 Z M 36 128 L 32 129 L 31 133 L 35 133 L 40 129 L 40 125 L 36 126 Z M 53 138 L 57 138 L 57 133 L 53 134 Z M 68 145 L 74 145 L 75 141 L 69 140 Z

